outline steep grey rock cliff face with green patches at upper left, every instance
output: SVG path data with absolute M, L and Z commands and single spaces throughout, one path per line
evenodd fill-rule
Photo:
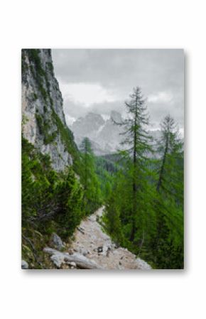
M 65 122 L 49 49 L 22 50 L 22 115 L 23 136 L 50 155 L 55 171 L 72 165 L 77 146 Z

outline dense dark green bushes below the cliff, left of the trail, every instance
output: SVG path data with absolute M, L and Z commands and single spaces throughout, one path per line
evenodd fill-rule
M 33 267 L 41 267 L 40 250 L 50 234 L 70 237 L 84 216 L 83 189 L 72 168 L 56 173 L 50 157 L 39 153 L 22 137 L 22 234 L 23 244 L 31 249 Z M 37 237 L 37 232 L 40 235 Z M 40 238 L 39 238 L 40 237 Z M 31 254 L 31 253 L 30 253 Z M 26 258 L 26 251 L 23 250 Z

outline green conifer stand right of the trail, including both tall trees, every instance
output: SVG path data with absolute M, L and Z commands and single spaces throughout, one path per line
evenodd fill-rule
M 104 225 L 117 244 L 153 268 L 183 269 L 183 144 L 173 119 L 166 117 L 158 141 L 161 158 L 148 158 L 146 109 L 139 94 L 134 90 L 126 102 L 131 117 L 119 124 L 129 148 L 119 153 L 121 166 L 107 185 Z

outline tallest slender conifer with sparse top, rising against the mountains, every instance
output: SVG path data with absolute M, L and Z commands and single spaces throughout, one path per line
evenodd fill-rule
M 139 233 L 141 232 L 142 238 L 144 237 L 143 230 L 143 213 L 146 199 L 144 194 L 148 187 L 146 178 L 146 161 L 147 154 L 151 151 L 149 140 L 146 131 L 148 126 L 148 113 L 146 107 L 146 100 L 143 99 L 141 89 L 139 87 L 134 88 L 133 93 L 130 95 L 128 102 L 125 102 L 128 119 L 123 120 L 121 123 L 114 121 L 114 124 L 122 126 L 124 128 L 125 139 L 122 145 L 128 146 L 124 151 L 124 154 L 131 159 L 130 175 L 132 178 L 131 192 L 132 192 L 132 209 L 131 209 L 131 233 L 130 241 L 134 242 L 137 227 Z M 127 161 L 128 162 L 128 161 Z M 139 215 L 139 216 L 138 216 Z M 137 218 L 139 219 L 139 225 L 137 225 Z

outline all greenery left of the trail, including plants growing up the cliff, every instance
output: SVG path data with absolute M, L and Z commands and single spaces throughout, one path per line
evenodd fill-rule
M 81 175 L 84 163 L 72 132 L 55 112 L 48 80 L 48 72 L 53 72 L 53 65 L 47 63 L 43 69 L 40 50 L 22 51 L 23 81 L 26 82 L 29 72 L 36 80 L 36 89 L 42 96 L 40 102 L 43 104 L 43 112 L 36 109 L 36 123 L 44 144 L 53 143 L 56 136 L 60 136 L 65 151 L 73 159 L 72 167 L 57 173 L 51 166 L 50 157 L 40 153 L 22 137 L 22 256 L 31 268 L 41 269 L 51 267 L 50 261 L 45 260 L 42 253 L 43 247 L 50 244 L 50 235 L 57 232 L 67 240 L 82 217 L 94 212 L 102 204 L 102 199 L 93 162 L 89 169 L 91 175 L 87 191 L 78 180 L 77 174 L 81 180 L 84 178 Z M 35 102 L 37 94 L 34 92 L 30 98 Z M 25 123 L 23 117 L 22 125 Z

